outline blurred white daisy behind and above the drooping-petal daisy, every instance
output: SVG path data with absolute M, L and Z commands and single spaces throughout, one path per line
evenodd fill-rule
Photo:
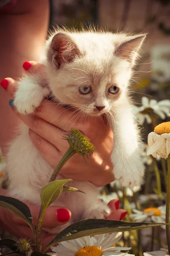
M 133 108 L 134 114 L 141 124 L 145 119 L 149 124 L 152 122 L 149 113 L 156 113 L 161 119 L 165 119 L 170 114 L 169 99 L 157 102 L 155 99 L 149 100 L 147 97 L 142 97 L 141 102 L 142 106 Z

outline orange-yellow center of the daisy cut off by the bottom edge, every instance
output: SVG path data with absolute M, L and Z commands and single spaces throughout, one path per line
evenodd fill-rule
M 102 256 L 102 249 L 96 246 L 82 247 L 75 254 L 76 256 Z

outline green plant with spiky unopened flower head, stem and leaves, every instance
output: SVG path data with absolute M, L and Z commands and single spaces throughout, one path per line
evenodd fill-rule
M 94 151 L 94 145 L 91 143 L 91 141 L 78 130 L 72 129 L 66 135 L 66 137 L 64 137 L 64 139 L 68 140 L 68 144 L 70 145 L 70 147 L 68 148 L 62 159 L 59 161 L 57 167 L 54 169 L 49 183 L 43 186 L 41 189 L 41 207 L 36 229 L 33 225 L 30 209 L 26 204 L 15 198 L 0 195 L 0 206 L 14 212 L 14 214 L 19 216 L 20 218 L 23 218 L 34 233 L 36 250 L 31 253 L 31 256 L 47 255 L 46 252 L 52 245 L 61 241 L 76 239 L 82 236 L 91 236 L 102 233 L 115 233 L 127 230 L 137 230 L 144 227 L 155 227 L 164 225 L 163 223 L 134 223 L 104 219 L 86 219 L 71 224 L 69 227 L 58 233 L 54 237 L 54 239 L 52 239 L 52 241 L 46 245 L 45 248 L 42 248 L 40 234 L 43 218 L 47 207 L 55 200 L 57 200 L 57 198 L 59 198 L 62 193 L 82 192 L 76 188 L 64 186 L 65 183 L 67 183 L 71 179 L 55 180 L 57 175 L 59 174 L 59 171 L 66 163 L 66 161 L 74 154 L 77 153 L 84 158 L 88 158 L 88 155 L 91 156 Z M 0 241 L 0 247 L 10 248 L 12 253 L 9 254 L 11 256 L 23 256 L 27 255 L 28 251 L 31 249 L 31 242 L 27 239 L 20 239 L 17 242 L 12 239 L 2 239 Z

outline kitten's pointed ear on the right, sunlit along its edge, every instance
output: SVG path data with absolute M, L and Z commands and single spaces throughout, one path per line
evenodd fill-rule
M 125 59 L 133 65 L 145 37 L 146 34 L 130 37 L 128 41 L 123 42 L 117 47 L 115 50 L 115 55 Z

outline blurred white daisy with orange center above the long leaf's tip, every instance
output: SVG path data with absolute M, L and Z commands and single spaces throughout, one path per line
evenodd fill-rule
M 132 210 L 134 213 L 130 214 L 129 217 L 133 219 L 134 222 L 156 222 L 156 223 L 164 223 L 165 222 L 165 212 L 166 206 L 150 207 L 146 208 L 143 211 L 139 211 L 137 209 Z M 165 229 L 165 226 L 161 226 Z

